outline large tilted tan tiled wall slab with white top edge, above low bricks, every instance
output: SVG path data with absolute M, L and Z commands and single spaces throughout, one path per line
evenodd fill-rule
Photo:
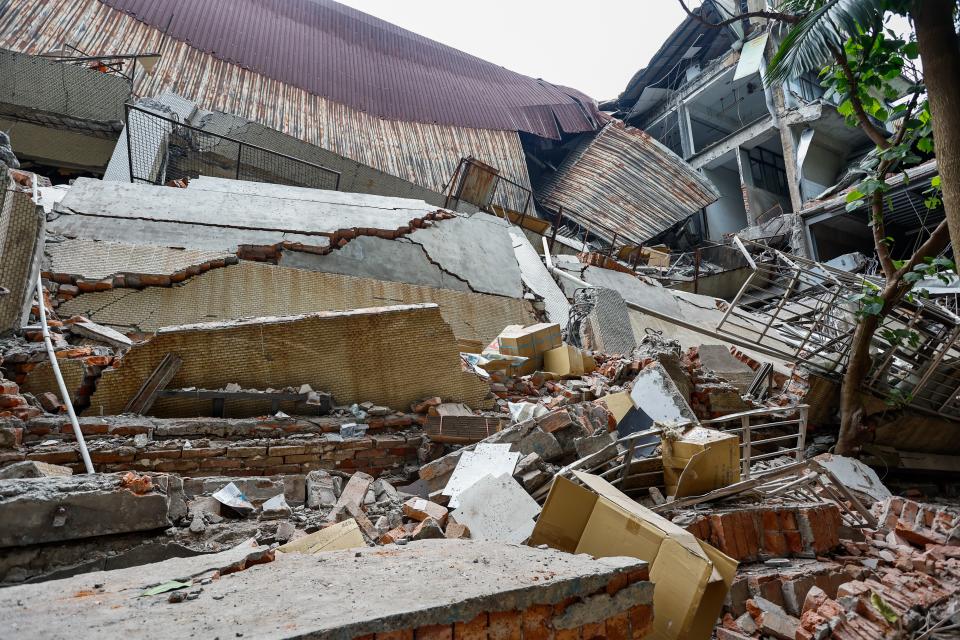
M 459 349 L 437 305 L 400 305 L 286 318 L 170 327 L 106 369 L 88 411 L 122 413 L 168 353 L 183 365 L 170 388 L 284 388 L 309 384 L 340 403 L 406 408 L 439 395 L 480 406 L 489 387 L 461 370 Z M 428 373 L 429 372 L 429 373 Z M 237 403 L 233 415 L 242 415 Z M 264 407 L 250 407 L 257 415 Z M 203 415 L 207 402 L 159 399 L 157 416 Z

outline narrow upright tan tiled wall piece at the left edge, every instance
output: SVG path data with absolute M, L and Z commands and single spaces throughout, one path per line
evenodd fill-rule
M 0 162 L 0 334 L 26 323 L 43 252 L 43 210 L 14 176 Z

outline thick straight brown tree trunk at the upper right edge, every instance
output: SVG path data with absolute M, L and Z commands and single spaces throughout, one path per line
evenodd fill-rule
M 954 30 L 956 8 L 956 0 L 915 0 L 910 12 L 930 99 L 934 151 L 954 255 L 960 248 L 960 38 Z

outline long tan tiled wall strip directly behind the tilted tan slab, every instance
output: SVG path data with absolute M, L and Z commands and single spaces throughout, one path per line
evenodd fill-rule
M 180 286 L 87 293 L 62 301 L 57 313 L 83 315 L 121 331 L 152 332 L 211 320 L 427 302 L 440 305 L 458 340 L 486 344 L 507 325 L 536 322 L 526 300 L 248 261 L 211 269 Z

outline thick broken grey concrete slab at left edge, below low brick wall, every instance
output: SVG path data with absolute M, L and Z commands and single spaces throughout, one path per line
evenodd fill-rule
M 155 478 L 140 494 L 119 473 L 0 480 L 0 547 L 169 527 L 179 479 Z

